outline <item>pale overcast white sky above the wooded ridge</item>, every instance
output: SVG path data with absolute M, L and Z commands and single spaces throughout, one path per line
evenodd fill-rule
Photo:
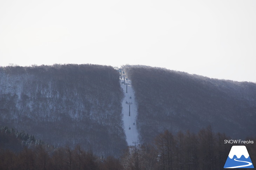
M 256 82 L 255 0 L 0 0 L 0 66 L 143 64 Z

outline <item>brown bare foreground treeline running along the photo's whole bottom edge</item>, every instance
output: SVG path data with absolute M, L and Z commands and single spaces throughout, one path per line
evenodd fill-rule
M 2 131 L 4 132 L 4 131 Z M 9 132 L 5 132 L 11 137 Z M 214 133 L 211 127 L 197 134 L 168 130 L 157 135 L 151 144 L 129 147 L 120 158 L 95 156 L 80 145 L 53 148 L 47 145 L 24 146 L 14 152 L 0 145 L 0 169 L 11 170 L 219 170 L 223 169 L 231 144 L 225 134 Z M 249 139 L 248 139 L 249 140 Z M 250 138 L 256 141 L 256 138 Z M 256 147 L 247 144 L 252 159 L 256 162 Z

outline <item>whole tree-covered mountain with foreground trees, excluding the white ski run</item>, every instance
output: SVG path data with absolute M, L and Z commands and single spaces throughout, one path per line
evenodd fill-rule
M 127 147 L 114 68 L 0 67 L 0 169 L 221 169 L 224 140 L 255 142 L 255 83 L 123 69 L 135 91 L 137 147 Z M 254 162 L 255 145 L 245 145 Z

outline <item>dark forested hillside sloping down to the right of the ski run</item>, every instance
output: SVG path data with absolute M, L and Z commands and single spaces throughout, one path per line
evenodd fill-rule
M 140 140 L 159 133 L 197 132 L 211 125 L 215 132 L 243 139 L 255 136 L 256 84 L 146 66 L 124 66 L 138 102 Z

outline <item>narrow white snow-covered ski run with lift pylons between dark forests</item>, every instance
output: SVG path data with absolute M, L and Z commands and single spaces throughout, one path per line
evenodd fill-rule
M 125 83 L 129 83 L 127 86 L 127 93 L 126 93 L 126 85 L 123 82 L 123 77 L 122 80 L 120 80 L 121 87 L 123 88 L 124 92 L 124 98 L 122 101 L 122 113 L 123 113 L 123 123 L 124 123 L 124 131 L 126 134 L 126 141 L 129 146 L 134 145 L 133 142 L 139 142 L 138 139 L 138 131 L 136 128 L 136 117 L 137 117 L 137 104 L 134 100 L 134 91 L 131 86 L 131 81 L 130 80 L 125 80 Z M 130 99 L 131 97 L 131 99 Z M 130 104 L 130 116 L 129 116 L 129 104 L 127 103 L 132 103 Z M 130 127 L 130 130 L 129 130 Z

